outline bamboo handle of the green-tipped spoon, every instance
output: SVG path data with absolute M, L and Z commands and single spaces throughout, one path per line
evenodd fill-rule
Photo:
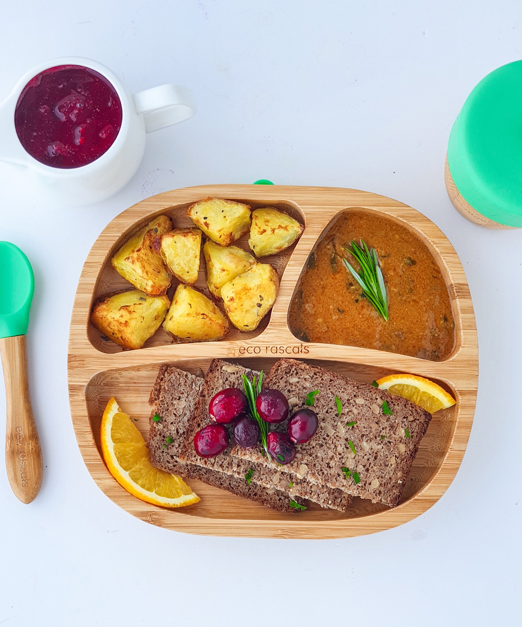
M 14 495 L 30 503 L 42 482 L 42 454 L 29 398 L 25 335 L 0 338 L 6 384 L 6 468 Z

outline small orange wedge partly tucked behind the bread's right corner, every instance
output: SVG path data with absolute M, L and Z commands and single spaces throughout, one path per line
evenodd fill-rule
M 390 374 L 376 382 L 380 389 L 407 398 L 431 414 L 455 404 L 455 399 L 441 386 L 414 374 Z

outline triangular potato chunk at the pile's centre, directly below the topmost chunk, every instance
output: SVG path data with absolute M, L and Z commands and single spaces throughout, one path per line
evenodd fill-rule
M 211 294 L 221 298 L 221 287 L 248 270 L 257 261 L 238 246 L 219 246 L 212 240 L 203 245 L 207 266 L 207 285 Z

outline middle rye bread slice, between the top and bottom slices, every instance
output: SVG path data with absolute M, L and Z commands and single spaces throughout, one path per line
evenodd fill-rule
M 236 364 L 229 364 L 221 361 L 221 359 L 214 359 L 211 362 L 204 380 L 201 396 L 197 401 L 196 411 L 194 411 L 194 415 L 189 420 L 179 458 L 198 466 L 220 470 L 242 480 L 244 480 L 246 473 L 252 469 L 251 482 L 253 483 L 258 483 L 270 490 L 275 488 L 287 492 L 289 498 L 294 500 L 297 500 L 298 497 L 306 498 L 314 503 L 318 503 L 321 507 L 345 512 L 352 500 L 352 497 L 346 492 L 337 488 L 328 488 L 324 485 L 308 482 L 298 475 L 293 478 L 293 485 L 290 487 L 289 483 L 291 482 L 288 479 L 288 475 L 281 472 L 283 466 L 276 466 L 273 462 L 269 464 L 254 463 L 248 457 L 239 458 L 239 456 L 231 455 L 230 447 L 221 455 L 213 458 L 201 458 L 196 455 L 194 451 L 194 435 L 196 435 L 199 429 L 202 429 L 212 421 L 208 411 L 212 396 L 226 387 L 237 387 L 243 390 L 243 380 L 241 379 L 243 374 L 251 380 L 253 376 L 259 376 L 259 372 Z M 239 449 L 239 446 L 234 446 L 235 449 Z M 261 448 L 259 448 L 259 451 L 261 451 Z M 260 453 L 258 458 L 263 460 Z

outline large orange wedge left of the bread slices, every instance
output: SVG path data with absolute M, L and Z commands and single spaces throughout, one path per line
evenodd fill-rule
M 127 492 L 162 507 L 184 507 L 200 500 L 181 477 L 150 463 L 143 436 L 114 398 L 103 412 L 100 435 L 107 468 Z

